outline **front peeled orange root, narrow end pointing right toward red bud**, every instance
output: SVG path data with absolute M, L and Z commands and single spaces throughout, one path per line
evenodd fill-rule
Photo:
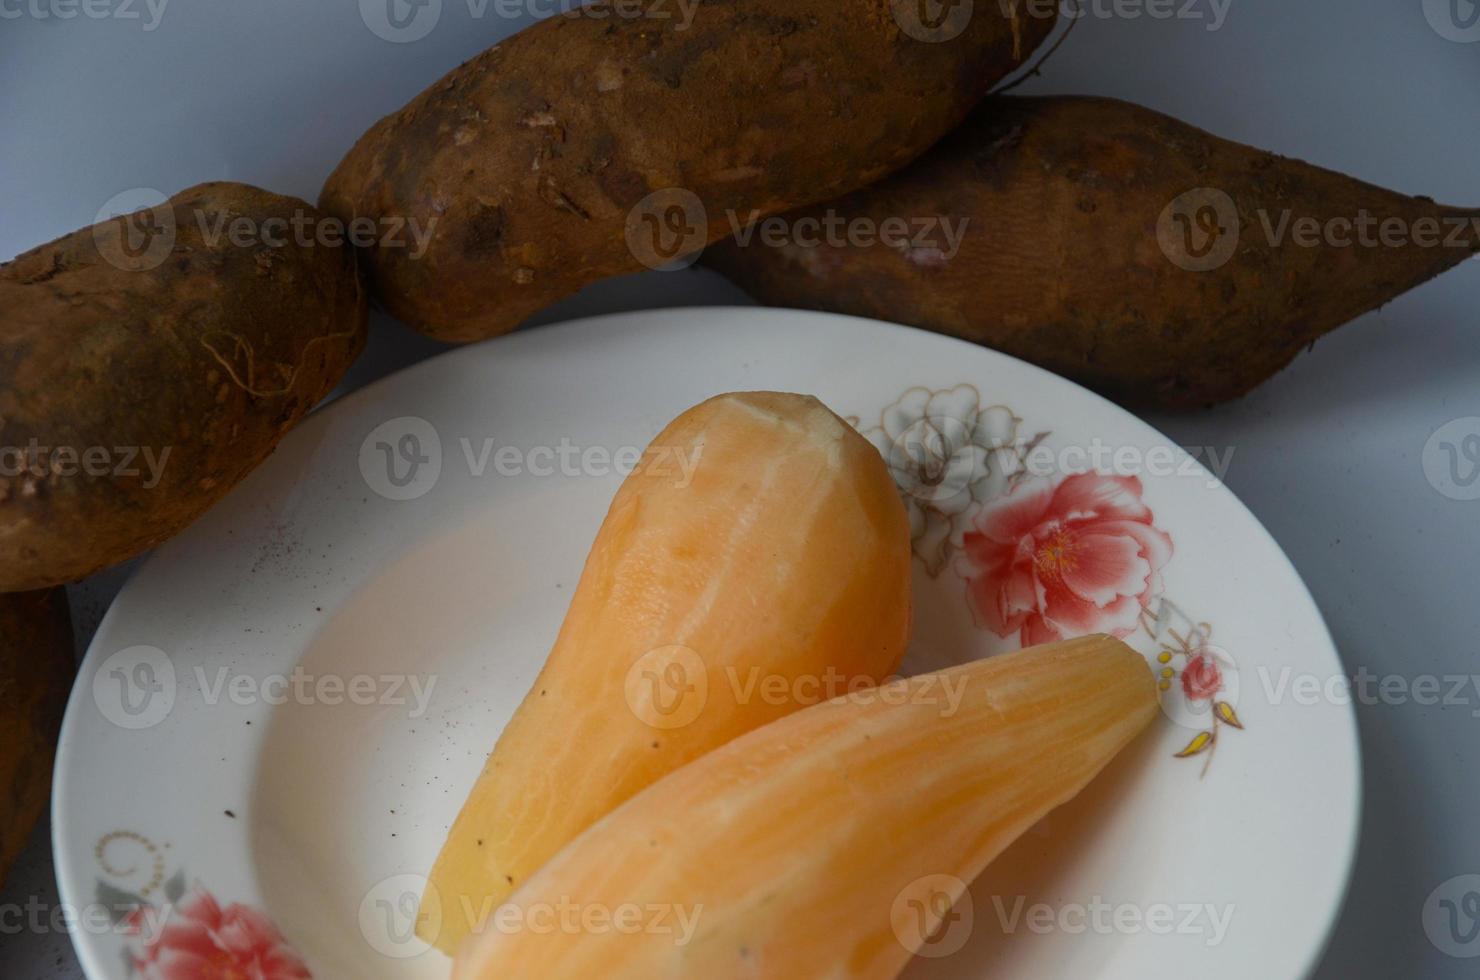
M 1083 789 L 1156 711 L 1146 660 L 1110 637 L 808 708 L 576 838 L 453 976 L 894 977 L 941 924 L 941 899 Z M 586 909 L 663 918 L 546 931 L 546 906 L 577 922 Z

